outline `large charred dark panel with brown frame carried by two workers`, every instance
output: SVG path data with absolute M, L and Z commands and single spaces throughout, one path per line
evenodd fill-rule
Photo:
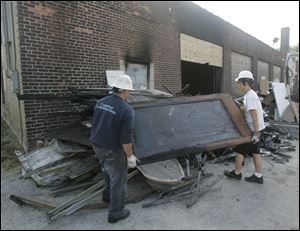
M 251 132 L 230 96 L 170 98 L 135 108 L 135 154 L 142 164 L 250 140 Z

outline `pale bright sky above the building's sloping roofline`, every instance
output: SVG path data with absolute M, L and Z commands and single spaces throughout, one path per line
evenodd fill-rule
M 193 2 L 275 49 L 283 27 L 290 28 L 290 46 L 299 43 L 299 1 Z

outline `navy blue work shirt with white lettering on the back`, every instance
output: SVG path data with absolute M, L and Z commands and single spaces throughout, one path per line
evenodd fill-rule
M 112 150 L 132 143 L 133 118 L 133 108 L 121 97 L 112 94 L 100 99 L 94 108 L 90 141 Z

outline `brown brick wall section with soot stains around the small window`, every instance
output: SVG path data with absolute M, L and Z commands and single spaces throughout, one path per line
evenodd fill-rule
M 172 2 L 19 1 L 23 94 L 66 93 L 106 85 L 120 60 L 154 65 L 155 88 L 181 89 L 179 33 Z M 25 101 L 28 147 L 77 117 L 68 101 Z

